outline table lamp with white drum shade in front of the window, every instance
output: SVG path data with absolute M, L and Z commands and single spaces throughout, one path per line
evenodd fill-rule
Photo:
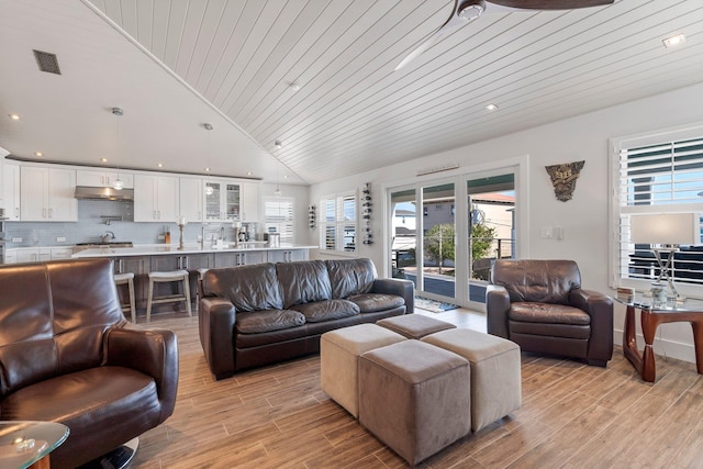
M 632 215 L 629 221 L 631 242 L 651 245 L 659 264 L 656 283 L 665 280 L 672 298 L 681 299 L 673 286 L 669 269 L 673 267 L 673 253 L 682 244 L 700 244 L 701 228 L 698 213 L 652 213 Z M 661 253 L 669 253 L 665 259 Z

